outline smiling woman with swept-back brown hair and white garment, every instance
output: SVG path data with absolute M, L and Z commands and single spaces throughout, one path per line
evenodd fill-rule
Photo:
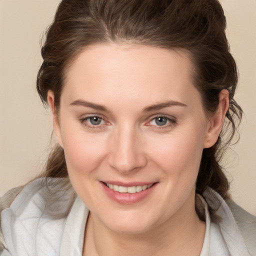
M 219 165 L 242 113 L 224 29 L 216 0 L 61 1 L 37 77 L 58 145 L 2 199 L 1 255 L 255 255 Z

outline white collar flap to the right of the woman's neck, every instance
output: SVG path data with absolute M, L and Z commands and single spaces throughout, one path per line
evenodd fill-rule
M 215 256 L 220 255 L 220 253 L 221 256 L 250 256 L 225 200 L 211 188 L 207 188 L 203 196 L 206 200 L 205 203 L 202 198 L 205 208 L 206 232 L 204 237 L 205 247 L 203 243 L 200 256 Z M 214 211 L 212 216 L 209 216 L 208 207 Z

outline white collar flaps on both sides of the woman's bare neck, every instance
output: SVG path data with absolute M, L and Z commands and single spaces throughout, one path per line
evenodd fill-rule
M 205 235 L 200 256 L 250 256 L 232 213 L 223 198 L 208 188 L 199 196 L 205 214 Z M 208 205 L 216 209 L 210 217 Z M 61 241 L 61 256 L 80 256 L 83 246 L 84 228 L 89 210 L 77 196 L 66 220 Z

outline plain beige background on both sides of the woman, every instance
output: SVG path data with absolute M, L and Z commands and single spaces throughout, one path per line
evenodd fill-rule
M 38 173 L 50 147 L 49 111 L 35 90 L 39 38 L 58 0 L 0 0 L 0 195 Z M 234 200 L 256 214 L 256 0 L 221 0 L 245 112 L 240 141 L 224 160 Z M 239 156 L 239 157 L 238 157 Z

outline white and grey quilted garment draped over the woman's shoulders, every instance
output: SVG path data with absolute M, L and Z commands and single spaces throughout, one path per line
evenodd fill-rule
M 3 249 L 1 256 L 81 256 L 89 211 L 61 179 L 57 185 L 49 184 L 49 189 L 43 180 L 27 184 L 10 206 L 2 210 L 3 245 L 8 250 Z M 200 256 L 256 255 L 256 218 L 230 201 L 252 230 L 246 227 L 246 235 L 252 241 L 246 246 L 226 202 L 212 189 L 207 189 L 204 197 L 206 201 L 200 196 L 206 231 Z M 214 219 L 210 219 L 208 205 L 217 209 Z

